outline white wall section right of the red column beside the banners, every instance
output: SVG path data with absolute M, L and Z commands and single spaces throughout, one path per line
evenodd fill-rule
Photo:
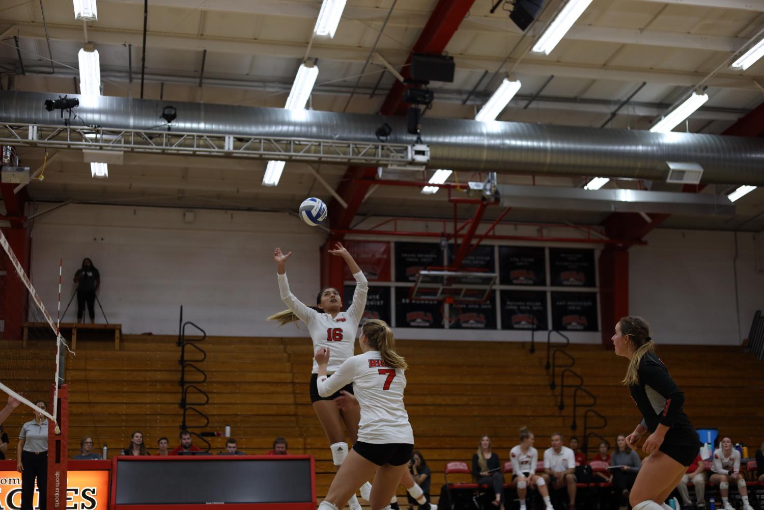
M 646 318 L 659 342 L 740 345 L 764 309 L 754 235 L 656 229 L 646 241 L 630 249 L 630 313 Z

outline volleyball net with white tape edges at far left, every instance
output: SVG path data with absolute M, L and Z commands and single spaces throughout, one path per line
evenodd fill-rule
M 68 347 L 2 231 L 0 246 L 0 391 L 39 411 L 59 434 L 58 389 Z

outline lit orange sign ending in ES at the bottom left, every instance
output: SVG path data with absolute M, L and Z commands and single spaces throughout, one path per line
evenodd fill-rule
M 66 479 L 67 510 L 105 510 L 108 508 L 108 470 L 73 471 Z M 34 508 L 39 494 L 34 491 Z M 21 509 L 21 473 L 0 471 L 0 510 Z

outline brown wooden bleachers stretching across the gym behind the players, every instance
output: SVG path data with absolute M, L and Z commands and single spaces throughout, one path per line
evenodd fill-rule
M 175 336 L 127 335 L 118 351 L 92 340 L 78 344 L 66 372 L 71 455 L 84 435 L 93 437 L 97 451 L 107 443 L 113 455 L 127 446 L 133 430 L 144 433 L 152 451 L 161 436 L 176 445 L 181 411 L 175 341 Z M 317 491 L 319 498 L 325 495 L 335 468 L 309 401 L 309 339 L 208 337 L 202 346 L 207 352 L 202 368 L 208 374 L 203 388 L 210 394 L 206 429 L 222 431 L 231 425 L 239 449 L 248 453 L 264 453 L 275 437 L 286 437 L 290 453 L 316 456 Z M 410 364 L 406 408 L 416 449 L 433 472 L 435 499 L 445 462 L 470 460 L 482 434 L 493 437 L 502 460 L 517 443 L 521 425 L 536 433 L 539 450 L 549 446 L 552 432 L 571 434 L 572 404 L 558 411 L 543 349 L 531 355 L 520 343 L 422 340 L 399 340 L 398 347 Z M 570 346 L 568 351 L 576 357 L 574 369 L 584 376 L 585 387 L 597 395 L 597 411 L 608 417 L 607 429 L 599 432 L 613 438 L 633 430 L 639 416 L 620 385 L 626 359 L 601 346 Z M 718 427 L 734 441 L 760 443 L 761 362 L 735 347 L 660 346 L 659 356 L 685 391 L 685 410 L 697 427 Z M 713 375 L 705 375 L 709 359 L 714 359 Z M 28 413 L 11 415 L 5 424 L 11 438 L 28 419 Z M 581 434 L 581 415 L 578 424 Z M 213 451 L 223 450 L 224 443 L 225 438 L 213 437 Z M 11 439 L 9 450 L 14 448 Z

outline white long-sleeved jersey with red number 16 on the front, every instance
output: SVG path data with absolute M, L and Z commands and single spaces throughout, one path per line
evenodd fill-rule
M 358 333 L 358 323 L 361 322 L 361 316 L 364 314 L 366 294 L 369 291 L 369 284 L 364 273 L 358 271 L 353 274 L 355 278 L 353 301 L 348 310 L 338 313 L 333 319 L 329 313 L 313 310 L 297 299 L 289 289 L 286 274 L 279 274 L 278 278 L 281 300 L 299 317 L 299 320 L 308 326 L 310 338 L 313 340 L 313 352 L 316 352 L 319 347 L 329 347 L 329 365 L 326 370 L 329 373 L 336 372 L 345 359 L 353 356 L 355 335 Z M 319 364 L 316 363 L 316 359 L 313 359 L 312 373 L 319 373 Z

